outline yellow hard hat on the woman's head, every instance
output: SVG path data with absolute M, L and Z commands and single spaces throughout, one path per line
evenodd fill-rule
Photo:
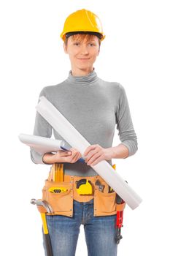
M 72 35 L 78 34 L 78 32 L 96 34 L 96 36 L 98 36 L 101 41 L 105 37 L 101 25 L 101 20 L 96 14 L 85 9 L 73 12 L 66 18 L 63 31 L 61 33 L 61 39 L 64 41 L 66 39 L 67 33 Z

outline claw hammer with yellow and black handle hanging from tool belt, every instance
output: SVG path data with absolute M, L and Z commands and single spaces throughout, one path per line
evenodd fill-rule
M 42 199 L 31 199 L 31 204 L 36 205 L 36 206 L 43 206 L 48 214 L 53 214 L 53 208 L 50 206 L 49 203 L 47 203 L 46 200 Z M 47 250 L 47 256 L 53 256 L 53 249 L 51 246 L 51 241 L 50 241 L 50 235 L 48 233 L 48 228 L 47 228 L 47 220 L 46 220 L 46 215 L 45 213 L 41 213 L 42 217 L 42 226 L 43 226 L 43 233 L 44 233 L 44 239 L 45 239 L 45 247 Z

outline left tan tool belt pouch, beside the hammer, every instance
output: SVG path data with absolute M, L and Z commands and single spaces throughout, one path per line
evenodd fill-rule
M 54 214 L 72 216 L 73 191 L 70 182 L 46 181 L 42 199 L 53 208 Z

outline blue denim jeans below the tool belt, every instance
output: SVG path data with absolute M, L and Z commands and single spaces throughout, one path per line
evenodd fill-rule
M 74 200 L 73 210 L 73 217 L 47 215 L 53 256 L 75 255 L 81 224 L 84 225 L 88 256 L 116 256 L 116 215 L 94 217 L 93 200 L 86 203 Z M 46 249 L 45 255 L 47 256 Z

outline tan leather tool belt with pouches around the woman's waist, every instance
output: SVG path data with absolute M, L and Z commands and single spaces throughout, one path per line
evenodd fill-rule
M 72 217 L 74 200 L 88 202 L 93 199 L 95 217 L 117 214 L 117 211 L 123 211 L 125 208 L 125 203 L 116 203 L 116 192 L 109 187 L 101 176 L 63 175 L 63 165 L 55 164 L 55 168 L 56 165 L 59 168 L 58 173 L 54 172 L 53 166 L 42 189 L 42 200 L 50 204 L 53 208 L 53 214 Z M 82 187 L 83 195 L 80 193 L 79 185 Z M 88 187 L 87 195 L 83 192 L 84 186 Z M 47 213 L 43 206 L 38 206 L 38 209 L 41 213 L 53 215 Z

